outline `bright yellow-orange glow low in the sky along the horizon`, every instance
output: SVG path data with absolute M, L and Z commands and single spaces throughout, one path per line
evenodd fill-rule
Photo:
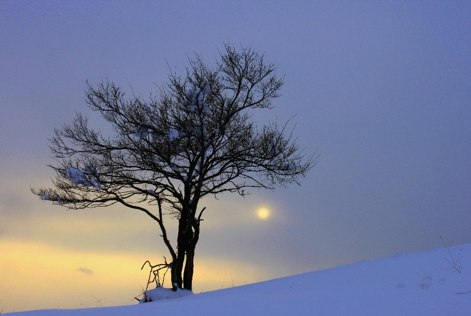
M 0 239 L 0 310 L 3 313 L 53 308 L 131 305 L 146 286 L 147 253 L 73 251 L 46 244 Z M 195 258 L 193 291 L 218 290 L 267 280 L 253 263 Z M 169 287 L 170 279 L 165 280 Z M 152 289 L 150 285 L 149 289 Z M 27 299 L 25 300 L 25 297 Z M 99 300 L 101 300 L 99 302 Z

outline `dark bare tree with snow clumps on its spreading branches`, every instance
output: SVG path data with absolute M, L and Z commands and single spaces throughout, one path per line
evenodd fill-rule
M 171 262 L 173 290 L 192 288 L 193 258 L 210 194 L 299 184 L 315 165 L 276 123 L 257 129 L 251 111 L 271 108 L 283 77 L 276 65 L 251 48 L 225 45 L 215 68 L 201 55 L 189 60 L 185 76 L 171 73 L 157 98 L 144 101 L 112 82 L 92 86 L 86 100 L 109 122 L 105 137 L 78 113 L 55 130 L 51 150 L 59 161 L 52 188 L 32 189 L 44 200 L 69 209 L 115 203 L 143 211 L 161 230 Z M 167 237 L 163 215 L 177 217 L 177 248 Z M 185 260 L 186 259 L 186 260 Z

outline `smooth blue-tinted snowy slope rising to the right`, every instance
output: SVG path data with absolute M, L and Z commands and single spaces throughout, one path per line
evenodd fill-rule
M 10 315 L 471 315 L 471 244 L 138 305 Z

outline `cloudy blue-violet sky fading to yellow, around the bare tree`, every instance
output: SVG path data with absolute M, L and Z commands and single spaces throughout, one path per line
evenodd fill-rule
M 39 201 L 47 138 L 76 112 L 110 132 L 85 80 L 149 97 L 228 42 L 285 75 L 257 124 L 296 115 L 320 156 L 301 186 L 200 203 L 195 292 L 471 242 L 470 21 L 468 1 L 1 1 L 0 311 L 136 302 L 157 226 Z

